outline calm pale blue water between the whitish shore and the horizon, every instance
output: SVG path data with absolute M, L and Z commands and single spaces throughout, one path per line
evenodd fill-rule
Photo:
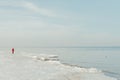
M 97 68 L 120 80 L 120 48 L 16 48 L 15 53 L 55 54 L 62 63 Z

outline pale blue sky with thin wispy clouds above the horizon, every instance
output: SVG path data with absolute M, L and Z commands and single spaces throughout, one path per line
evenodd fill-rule
M 0 47 L 120 46 L 120 0 L 0 0 Z

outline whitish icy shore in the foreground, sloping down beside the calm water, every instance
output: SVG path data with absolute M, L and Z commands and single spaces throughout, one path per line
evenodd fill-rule
M 62 64 L 57 55 L 0 53 L 0 80 L 117 80 L 96 68 Z

